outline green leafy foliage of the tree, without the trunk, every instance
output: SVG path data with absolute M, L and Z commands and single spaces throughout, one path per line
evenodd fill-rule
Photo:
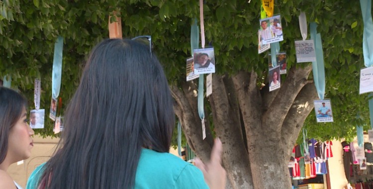
M 154 52 L 170 83 L 185 80 L 190 22 L 199 17 L 195 0 L 0 1 L 0 77 L 12 77 L 12 85 L 29 99 L 30 109 L 33 81 L 40 78 L 41 106 L 48 112 L 54 42 L 57 36 L 63 36 L 63 113 L 78 86 L 88 53 L 108 36 L 108 16 L 113 10 L 120 12 L 124 37 L 152 35 Z M 308 22 L 319 24 L 317 31 L 323 40 L 326 70 L 325 96 L 331 98 L 335 115 L 334 123 L 317 124 L 311 113 L 305 122 L 308 136 L 351 138 L 358 122 L 357 112 L 361 112 L 361 124 L 369 124 L 367 95 L 358 94 L 359 70 L 364 65 L 359 1 L 277 1 L 275 14 L 281 15 L 284 33 L 280 48 L 287 53 L 288 67 L 296 65 L 294 40 L 301 39 L 300 11 L 306 12 Z M 260 1 L 206 1 L 203 13 L 206 46 L 214 46 L 217 74 L 254 69 L 258 84 L 267 82 L 267 55 L 257 53 Z M 52 122 L 48 120 L 46 129 L 36 132 L 53 135 Z

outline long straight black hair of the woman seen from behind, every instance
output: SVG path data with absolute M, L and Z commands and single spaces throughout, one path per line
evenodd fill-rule
M 142 148 L 168 152 L 175 124 L 172 96 L 158 59 L 145 44 L 97 44 L 65 111 L 60 149 L 39 186 L 133 188 Z

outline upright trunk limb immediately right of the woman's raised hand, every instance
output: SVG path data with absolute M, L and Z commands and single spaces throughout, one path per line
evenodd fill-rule
M 245 146 L 239 114 L 239 104 L 233 82 L 228 76 L 214 75 L 210 97 L 215 132 L 223 143 L 223 163 L 233 188 L 253 188 L 248 152 Z M 235 162 L 234 164 L 232 162 Z M 234 171 L 233 171 L 234 170 Z M 244 182 L 242 182 L 244 181 Z

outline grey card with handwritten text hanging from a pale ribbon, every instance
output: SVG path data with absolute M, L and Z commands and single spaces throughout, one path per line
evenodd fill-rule
M 315 45 L 312 39 L 304 41 L 299 40 L 294 42 L 297 63 L 316 61 Z

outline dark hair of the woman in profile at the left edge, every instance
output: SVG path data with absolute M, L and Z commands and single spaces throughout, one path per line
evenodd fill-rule
M 8 151 L 9 130 L 22 116 L 27 100 L 19 93 L 0 87 L 0 164 Z

